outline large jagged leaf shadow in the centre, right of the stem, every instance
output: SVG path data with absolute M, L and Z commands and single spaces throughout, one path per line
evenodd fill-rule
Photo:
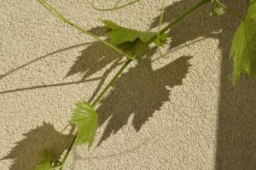
M 166 87 L 182 85 L 189 70 L 190 56 L 183 56 L 154 71 L 148 57 L 138 59 L 136 67 L 129 69 L 113 85 L 113 90 L 97 109 L 100 125 L 108 125 L 99 144 L 127 124 L 133 114 L 132 126 L 139 131 L 154 111 L 169 100 Z M 98 145 L 99 145 L 98 144 Z

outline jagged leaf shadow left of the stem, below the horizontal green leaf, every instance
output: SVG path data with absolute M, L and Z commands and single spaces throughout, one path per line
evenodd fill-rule
M 101 37 L 105 34 L 105 28 L 103 26 L 98 26 L 96 28 L 92 28 L 90 32 Z M 73 66 L 67 72 L 66 77 L 80 74 L 82 75 L 80 81 L 84 82 L 89 77 L 94 76 L 96 72 L 102 71 L 102 69 L 108 67 L 99 78 L 100 82 L 90 97 L 90 102 L 96 97 L 96 94 L 98 94 L 99 90 L 102 88 L 108 74 L 123 63 L 124 61 L 122 61 L 122 56 L 113 51 L 113 49 L 108 48 L 105 44 L 102 44 L 102 42 L 92 42 L 87 48 L 84 48 L 84 50 L 81 51 L 81 55 L 77 57 Z

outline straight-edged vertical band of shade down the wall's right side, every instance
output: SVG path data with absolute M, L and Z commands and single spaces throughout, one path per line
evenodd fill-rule
M 246 12 L 247 3 L 229 2 L 241 14 Z M 243 75 L 233 88 L 230 80 L 232 65 L 225 57 L 230 53 L 230 40 L 235 28 L 236 24 L 220 43 L 224 57 L 220 77 L 216 169 L 256 169 L 256 81 Z

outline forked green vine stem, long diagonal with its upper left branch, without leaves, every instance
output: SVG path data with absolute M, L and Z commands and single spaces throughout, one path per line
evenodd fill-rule
M 96 40 L 108 45 L 109 48 L 113 48 L 115 51 L 119 52 L 120 54 L 124 54 L 126 57 L 128 57 L 127 61 L 125 62 L 125 64 L 119 69 L 119 71 L 116 73 L 116 75 L 111 79 L 110 82 L 108 82 L 108 85 L 102 90 L 102 92 L 98 95 L 98 97 L 92 102 L 91 106 L 94 107 L 97 102 L 102 99 L 102 96 L 104 94 L 106 94 L 106 92 L 108 91 L 108 89 L 113 85 L 113 83 L 118 79 L 118 77 L 121 75 L 121 73 L 125 70 L 125 68 L 127 67 L 127 65 L 129 65 L 131 63 L 131 61 L 133 59 L 136 59 L 138 55 L 142 54 L 143 51 L 148 48 L 148 45 L 152 42 L 154 42 L 154 40 L 158 37 L 158 35 L 150 38 L 148 40 L 148 42 L 144 42 L 141 48 L 138 48 L 131 56 L 127 54 L 125 54 L 124 52 L 122 52 L 121 50 L 119 50 L 118 48 L 115 48 L 113 45 L 111 45 L 110 43 L 102 40 L 99 37 L 96 37 L 95 35 L 91 34 L 88 31 L 85 31 L 83 28 L 81 28 L 80 26 L 74 25 L 73 23 L 71 23 L 69 20 L 67 20 L 62 14 L 60 14 L 55 8 L 52 8 L 49 3 L 46 3 L 45 0 L 38 0 L 40 3 L 42 3 L 44 5 L 45 8 L 47 8 L 49 10 L 49 12 L 51 12 L 52 14 L 55 14 L 55 16 L 57 18 L 59 18 L 60 20 L 62 20 L 63 22 L 69 24 L 70 26 L 75 27 L 76 29 L 78 29 L 79 31 L 83 31 L 85 34 L 87 34 L 90 37 L 94 37 Z M 189 14 L 192 14 L 193 12 L 195 12 L 195 10 L 197 8 L 200 8 L 202 5 L 210 2 L 211 0 L 201 0 L 198 3 L 195 3 L 194 6 L 192 6 L 191 8 L 189 8 L 187 11 L 185 11 L 183 14 L 180 14 L 176 19 L 172 20 L 165 28 L 163 28 L 160 31 L 160 35 L 165 33 L 166 31 L 168 31 L 169 29 L 172 28 L 172 26 L 176 26 L 177 23 L 179 23 L 181 20 L 185 19 Z M 75 140 L 77 139 L 77 133 L 75 135 L 75 137 L 73 138 L 72 143 L 70 144 L 70 146 L 68 147 L 68 150 L 63 158 L 63 160 L 61 161 L 61 167 L 60 170 L 63 169 L 64 167 L 64 163 L 67 160 L 67 156 L 70 153 L 70 150 L 72 150 L 73 145 L 75 143 Z

